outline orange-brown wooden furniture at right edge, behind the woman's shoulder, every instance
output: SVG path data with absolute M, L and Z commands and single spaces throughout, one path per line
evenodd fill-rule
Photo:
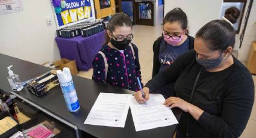
M 252 74 L 256 74 L 256 41 L 252 42 L 246 62 L 246 67 Z

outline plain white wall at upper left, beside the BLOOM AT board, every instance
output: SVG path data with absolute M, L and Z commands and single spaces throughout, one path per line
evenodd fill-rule
M 60 59 L 51 1 L 25 0 L 22 6 L 19 13 L 0 15 L 0 53 L 37 64 Z M 46 16 L 51 17 L 51 25 Z

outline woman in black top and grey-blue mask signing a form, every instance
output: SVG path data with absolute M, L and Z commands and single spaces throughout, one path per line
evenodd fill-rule
M 163 103 L 184 111 L 176 130 L 180 137 L 239 137 L 254 105 L 249 70 L 231 55 L 236 32 L 224 20 L 213 20 L 196 33 L 195 50 L 184 53 L 146 83 L 134 98 L 175 82 L 175 97 Z

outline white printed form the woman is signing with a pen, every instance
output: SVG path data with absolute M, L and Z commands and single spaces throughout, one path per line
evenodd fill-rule
M 163 105 L 165 99 L 161 94 L 151 94 L 145 104 L 139 104 L 134 97 L 130 99 L 131 114 L 136 131 L 178 124 L 170 107 Z

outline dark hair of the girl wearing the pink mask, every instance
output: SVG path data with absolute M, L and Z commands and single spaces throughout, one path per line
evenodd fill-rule
M 181 8 L 174 8 L 164 16 L 163 24 L 167 22 L 178 22 L 181 24 L 181 28 L 187 29 L 187 15 Z

